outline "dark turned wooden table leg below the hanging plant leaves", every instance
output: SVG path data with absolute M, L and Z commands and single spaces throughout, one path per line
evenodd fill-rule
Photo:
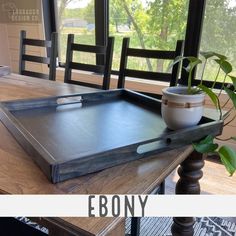
M 204 166 L 203 155 L 194 151 L 182 162 L 178 169 L 180 176 L 176 184 L 176 194 L 200 194 L 199 179 L 202 178 Z M 194 233 L 193 217 L 174 217 L 171 232 L 173 236 L 192 236 Z

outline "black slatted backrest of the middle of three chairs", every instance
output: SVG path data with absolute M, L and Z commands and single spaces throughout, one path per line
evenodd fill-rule
M 66 53 L 64 82 L 93 87 L 93 88 L 99 88 L 99 89 L 109 89 L 112 57 L 113 57 L 113 47 L 114 47 L 114 37 L 108 38 L 108 43 L 106 46 L 98 46 L 98 45 L 95 46 L 95 45 L 85 45 L 85 44 L 74 43 L 74 35 L 69 34 L 68 40 L 67 40 L 67 53 Z M 105 58 L 104 64 L 94 65 L 94 64 L 74 62 L 73 61 L 74 51 L 93 53 L 96 56 L 104 55 L 104 58 Z M 89 72 L 94 72 L 94 73 L 103 75 L 102 85 L 78 81 L 78 80 L 72 80 L 71 78 L 72 69 L 89 71 Z

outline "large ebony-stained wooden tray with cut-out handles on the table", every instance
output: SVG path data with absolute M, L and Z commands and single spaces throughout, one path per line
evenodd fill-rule
M 53 183 L 218 135 L 222 122 L 171 131 L 161 102 L 128 90 L 0 104 L 0 119 Z

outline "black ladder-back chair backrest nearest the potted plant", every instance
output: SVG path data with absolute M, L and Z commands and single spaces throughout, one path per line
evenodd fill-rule
M 118 88 L 124 88 L 126 77 L 169 82 L 169 86 L 174 86 L 177 84 L 179 64 L 175 64 L 170 73 L 128 69 L 127 64 L 129 57 L 173 60 L 175 57 L 182 54 L 182 40 L 177 41 L 175 51 L 129 48 L 129 41 L 129 38 L 124 38 L 122 43 Z

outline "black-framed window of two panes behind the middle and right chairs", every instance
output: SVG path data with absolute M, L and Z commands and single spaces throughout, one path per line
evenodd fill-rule
M 113 70 L 118 70 L 122 38 L 126 36 L 131 38 L 133 47 L 164 50 L 173 50 L 177 39 L 185 39 L 185 54 L 196 56 L 205 2 L 206 0 L 43 0 L 43 5 L 44 15 L 49 12 L 45 22 L 50 22 L 53 18 L 60 26 L 59 51 L 62 62 L 65 60 L 68 33 L 76 34 L 77 42 L 98 45 L 105 45 L 109 34 L 116 38 Z M 72 18 L 83 21 L 84 26 L 69 22 Z M 55 22 L 51 21 L 53 26 Z M 50 24 L 46 23 L 45 31 L 48 31 L 48 36 L 49 28 Z M 52 30 L 54 28 L 51 27 Z M 96 59 L 100 63 L 99 58 Z M 142 65 L 148 68 L 148 64 L 147 61 L 131 61 L 131 66 L 134 67 Z M 151 66 L 153 69 L 159 67 L 158 70 L 166 68 L 161 62 L 151 62 Z M 186 81 L 187 77 L 184 75 L 181 83 L 186 84 Z

